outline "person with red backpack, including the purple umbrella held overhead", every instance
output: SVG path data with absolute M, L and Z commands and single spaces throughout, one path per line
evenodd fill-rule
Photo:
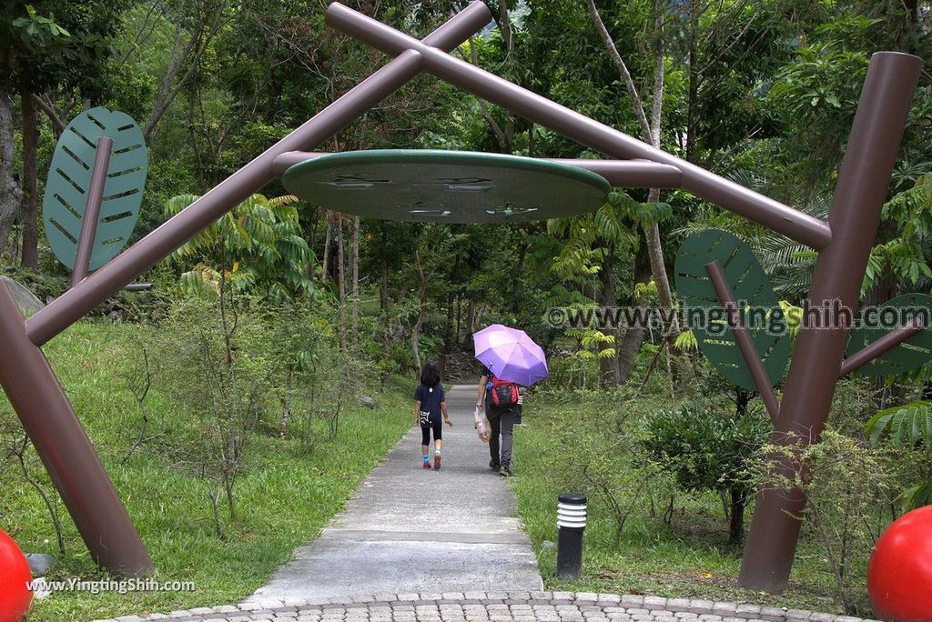
M 547 359 L 528 333 L 492 324 L 473 334 L 475 358 L 482 363 L 476 408 L 486 411 L 491 427 L 488 466 L 503 477 L 514 475 L 514 425 L 522 396 L 518 386 L 530 386 L 547 377 Z

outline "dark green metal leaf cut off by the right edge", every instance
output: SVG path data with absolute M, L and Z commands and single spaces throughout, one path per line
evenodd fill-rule
M 897 296 L 893 300 L 881 304 L 871 321 L 871 326 L 865 326 L 852 331 L 848 341 L 847 356 L 855 354 L 866 345 L 870 345 L 883 337 L 889 331 L 899 326 L 908 325 L 913 317 L 918 317 L 926 327 L 911 336 L 897 347 L 887 350 L 875 358 L 857 373 L 867 375 L 886 376 L 911 372 L 922 367 L 932 359 L 932 296 L 924 293 L 907 293 Z M 880 323 L 881 326 L 874 326 Z

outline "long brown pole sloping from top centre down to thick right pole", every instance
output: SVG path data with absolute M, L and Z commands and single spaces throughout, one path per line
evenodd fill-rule
M 387 54 L 396 55 L 408 49 L 417 50 L 423 57 L 424 69 L 431 74 L 546 128 L 554 129 L 607 156 L 617 159 L 642 158 L 676 167 L 682 172 L 684 190 L 814 249 L 823 249 L 831 241 L 828 223 L 640 142 L 617 129 L 541 97 L 527 88 L 518 87 L 498 75 L 489 74 L 469 62 L 460 61 L 426 42 L 400 33 L 351 8 L 335 2 L 327 7 L 325 19 L 327 24 L 336 30 Z

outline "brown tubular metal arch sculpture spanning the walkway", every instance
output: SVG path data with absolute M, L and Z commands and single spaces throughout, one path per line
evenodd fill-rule
M 810 300 L 816 303 L 839 300 L 851 309 L 857 306 L 859 287 L 918 81 L 922 65 L 919 58 L 897 52 L 878 52 L 871 58 L 829 220 L 825 222 L 637 141 L 448 53 L 491 19 L 487 7 L 475 2 L 418 40 L 348 7 L 331 5 L 326 15 L 330 26 L 377 47 L 394 57 L 392 61 L 32 318 L 21 318 L 7 287 L 0 284 L 0 384 L 33 439 L 91 554 L 104 568 L 138 575 L 150 572 L 153 565 L 41 346 L 286 169 L 319 156 L 299 150 L 318 147 L 421 72 L 434 74 L 614 158 L 560 160 L 562 163 L 592 170 L 617 186 L 682 188 L 818 250 Z M 720 294 L 727 298 L 729 288 L 721 282 L 717 267 L 710 264 L 709 273 L 719 284 Z M 907 327 L 891 335 L 883 345 L 878 341 L 852 358 L 866 364 L 882 354 L 884 348 L 889 349 L 910 334 Z M 817 441 L 839 377 L 857 367 L 843 366 L 847 337 L 846 326 L 831 330 L 802 329 L 783 402 L 777 404 L 774 397 L 771 404 L 776 409 L 774 443 Z M 751 362 L 753 352 L 748 350 L 747 357 Z M 771 389 L 768 395 L 772 394 Z M 777 459 L 773 467 L 790 477 L 802 468 Z M 801 525 L 795 517 L 802 514 L 804 505 L 805 498 L 799 490 L 765 491 L 759 495 L 739 577 L 741 585 L 768 590 L 787 585 Z

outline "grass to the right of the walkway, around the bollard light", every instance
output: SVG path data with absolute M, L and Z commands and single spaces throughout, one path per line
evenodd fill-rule
M 767 606 L 843 613 L 831 598 L 834 588 L 824 552 L 803 537 L 797 552 L 790 587 L 781 595 L 738 588 L 735 579 L 741 551 L 729 548 L 728 523 L 716 494 L 676 496 L 670 524 L 651 518 L 648 494 L 624 526 L 620 546 L 614 543 L 614 522 L 597 499 L 589 500 L 589 519 L 584 536 L 583 574 L 576 581 L 562 581 L 556 570 L 556 499 L 567 490 L 568 478 L 553 467 L 550 456 L 573 452 L 562 447 L 555 430 L 578 425 L 582 409 L 612 408 L 598 402 L 556 404 L 537 397 L 528 399 L 527 427 L 515 430 L 514 478 L 518 510 L 530 536 L 548 589 L 648 594 L 667 598 L 702 598 L 710 601 L 753 602 Z M 606 431 L 613 433 L 611 414 L 605 415 Z M 634 477 L 634 476 L 632 476 Z M 661 513 L 669 496 L 657 496 Z M 750 523 L 746 514 L 746 528 Z M 866 612 L 870 613 L 870 612 Z

